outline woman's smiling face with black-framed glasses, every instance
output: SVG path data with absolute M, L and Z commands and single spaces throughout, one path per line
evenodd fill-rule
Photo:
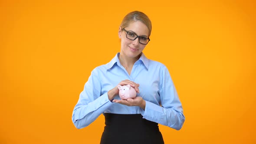
M 131 33 L 136 34 L 137 36 L 143 36 L 148 38 L 149 30 L 148 27 L 140 22 L 135 21 L 131 22 L 125 30 Z M 129 58 L 136 58 L 139 54 L 141 54 L 142 50 L 146 45 L 139 43 L 139 38 L 135 40 L 130 40 L 126 38 L 126 32 L 119 28 L 118 36 L 121 38 L 121 55 L 127 56 Z

